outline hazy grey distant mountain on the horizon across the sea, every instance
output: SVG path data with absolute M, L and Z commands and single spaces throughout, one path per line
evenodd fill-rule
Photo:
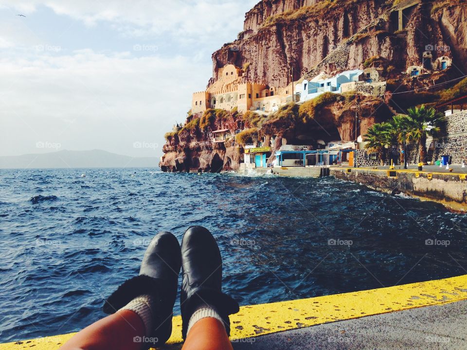
M 102 150 L 57 151 L 0 157 L 0 168 L 159 168 L 157 157 L 128 157 Z

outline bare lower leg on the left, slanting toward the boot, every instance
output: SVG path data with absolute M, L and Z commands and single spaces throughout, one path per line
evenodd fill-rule
M 222 327 L 222 325 L 221 325 Z M 76 333 L 60 350 L 140 350 L 144 337 L 144 323 L 130 310 L 118 311 Z

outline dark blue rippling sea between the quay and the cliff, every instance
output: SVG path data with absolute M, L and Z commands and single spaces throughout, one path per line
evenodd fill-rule
M 0 170 L 0 341 L 103 317 L 151 238 L 191 225 L 216 237 L 242 305 L 467 273 L 465 215 L 331 177 Z

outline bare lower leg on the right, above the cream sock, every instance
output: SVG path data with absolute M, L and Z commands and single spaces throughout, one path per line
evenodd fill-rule
M 188 332 L 182 350 L 233 350 L 222 323 L 206 317 L 196 322 Z

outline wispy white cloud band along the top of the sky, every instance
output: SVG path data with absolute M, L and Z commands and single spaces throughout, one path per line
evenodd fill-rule
M 233 0 L 0 0 L 0 6 L 33 15 L 40 6 L 82 21 L 107 22 L 132 37 L 172 35 L 180 42 L 233 40 L 243 28 L 245 12 L 256 1 Z

